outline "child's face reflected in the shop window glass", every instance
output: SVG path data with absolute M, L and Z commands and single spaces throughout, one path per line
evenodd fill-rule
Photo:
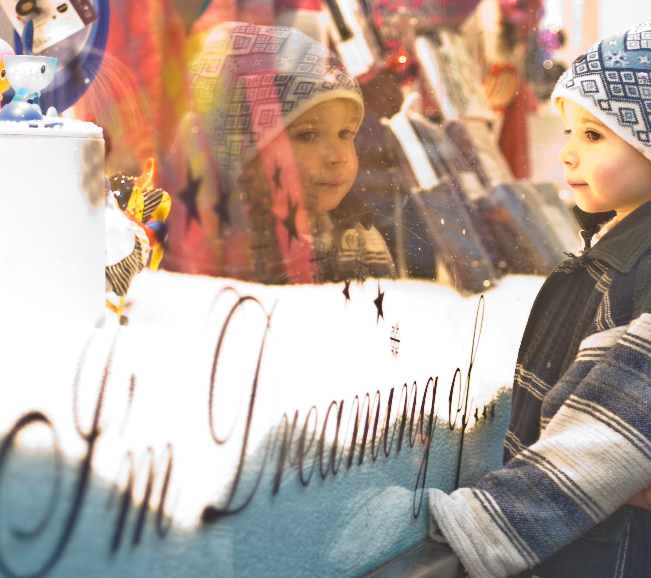
M 355 130 L 359 111 L 352 100 L 337 99 L 305 111 L 287 127 L 305 199 L 317 211 L 333 210 L 357 174 Z

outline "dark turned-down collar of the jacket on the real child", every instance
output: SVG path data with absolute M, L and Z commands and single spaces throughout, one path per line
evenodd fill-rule
M 630 273 L 651 249 L 651 201 L 645 202 L 617 223 L 587 251 L 590 259 L 600 259 L 620 273 Z

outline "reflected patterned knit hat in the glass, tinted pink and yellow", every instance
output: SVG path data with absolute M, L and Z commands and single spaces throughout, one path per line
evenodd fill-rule
M 206 145 L 223 176 L 234 176 L 314 105 L 348 98 L 363 118 L 357 81 L 333 52 L 292 28 L 220 24 L 189 73 Z

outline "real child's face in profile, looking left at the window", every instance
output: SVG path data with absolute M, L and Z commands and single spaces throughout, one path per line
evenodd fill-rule
M 623 219 L 651 200 L 651 161 L 576 103 L 565 100 L 563 116 L 570 140 L 559 158 L 579 208 Z

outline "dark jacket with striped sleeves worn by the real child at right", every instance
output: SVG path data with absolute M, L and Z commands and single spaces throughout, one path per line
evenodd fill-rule
M 650 249 L 648 202 L 555 269 L 523 335 L 505 466 L 430 489 L 473 578 L 533 568 L 651 482 Z

